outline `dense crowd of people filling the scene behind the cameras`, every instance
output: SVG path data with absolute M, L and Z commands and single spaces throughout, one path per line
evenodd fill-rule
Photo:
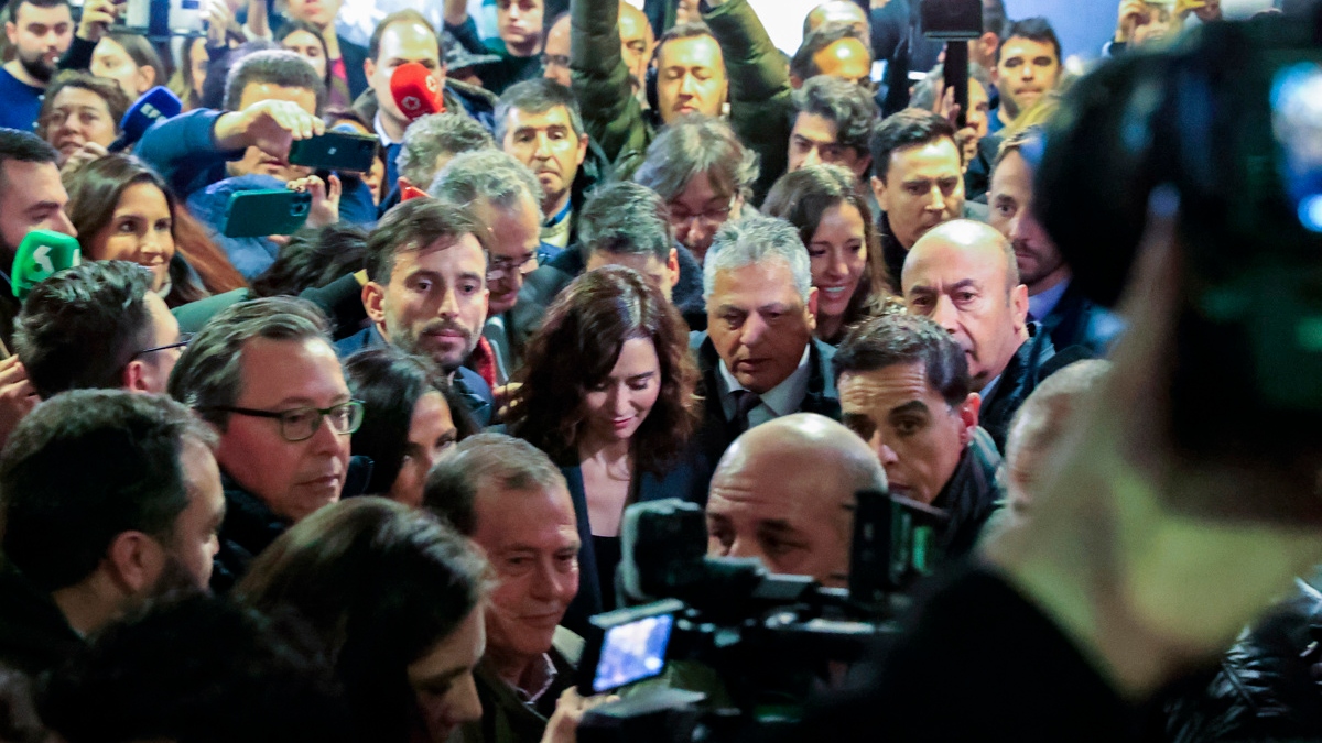
M 940 510 L 943 567 L 1032 554 L 1142 317 L 1035 208 L 1081 85 L 1052 19 L 981 0 L 961 106 L 917 0 L 826 0 L 793 54 L 748 0 L 496 0 L 490 37 L 446 0 L 366 46 L 340 5 L 208 0 L 168 44 L 112 0 L 8 1 L 0 740 L 572 740 L 644 501 L 826 587 L 859 490 Z M 1103 65 L 1222 24 L 1122 0 Z M 130 126 L 161 87 L 180 112 Z M 327 132 L 373 137 L 370 168 L 290 163 Z M 226 234 L 255 190 L 305 221 Z M 81 260 L 19 291 L 20 246 L 58 235 Z M 1103 711 L 1322 736 L 1307 591 L 1215 678 L 1121 680 Z M 1071 637 L 1040 668 L 1107 666 Z M 1253 653 L 1276 706 L 1236 682 Z

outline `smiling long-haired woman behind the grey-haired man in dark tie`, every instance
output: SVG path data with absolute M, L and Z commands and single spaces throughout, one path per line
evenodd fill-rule
M 873 210 L 858 178 L 839 165 L 809 165 L 781 176 L 761 213 L 798 230 L 817 287 L 817 337 L 838 345 L 850 325 L 880 315 L 894 296 Z

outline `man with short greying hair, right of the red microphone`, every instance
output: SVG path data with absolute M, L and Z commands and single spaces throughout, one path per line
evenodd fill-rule
M 574 94 L 546 78 L 510 86 L 496 107 L 496 140 L 542 184 L 542 242 L 568 247 L 575 214 L 607 167 L 605 155 L 591 148 Z

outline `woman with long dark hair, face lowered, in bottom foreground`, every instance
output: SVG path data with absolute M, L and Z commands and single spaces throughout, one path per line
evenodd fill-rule
M 489 580 L 486 561 L 435 516 L 360 497 L 282 534 L 233 595 L 311 625 L 334 660 L 360 740 L 444 743 L 481 717 L 472 669 Z

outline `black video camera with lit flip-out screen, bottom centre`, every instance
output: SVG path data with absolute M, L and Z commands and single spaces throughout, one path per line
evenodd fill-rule
M 621 525 L 619 592 L 642 606 L 592 617 L 582 694 L 697 661 L 720 697 L 648 689 L 594 707 L 582 743 L 734 739 L 797 722 L 832 665 L 862 660 L 894 633 L 904 591 L 932 571 L 947 514 L 878 490 L 855 494 L 849 588 L 777 575 L 752 558 L 706 555 L 703 510 L 678 498 L 635 504 Z

